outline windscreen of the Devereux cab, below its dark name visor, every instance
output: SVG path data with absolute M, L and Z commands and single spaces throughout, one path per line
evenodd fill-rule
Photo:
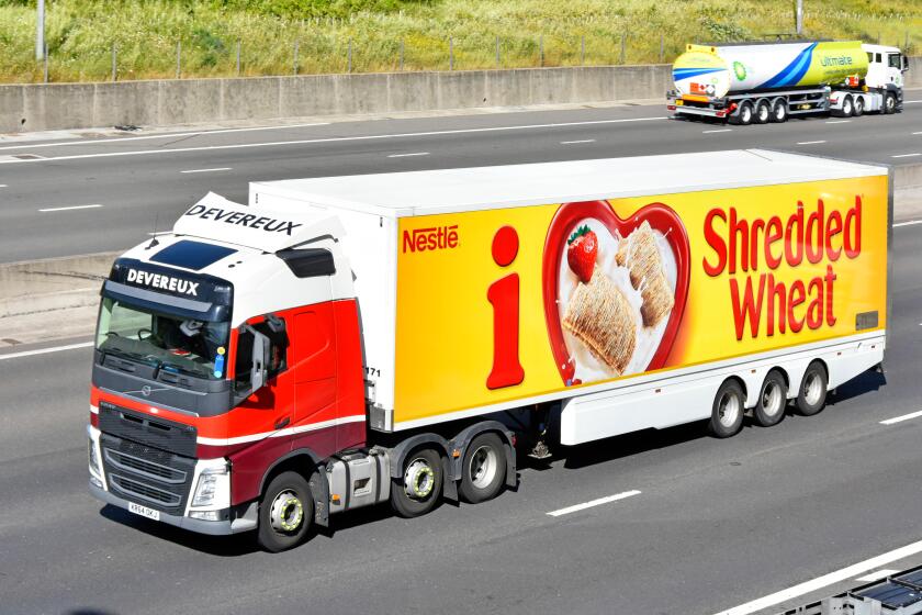
M 227 322 L 206 322 L 153 312 L 103 298 L 97 349 L 171 373 L 224 378 Z

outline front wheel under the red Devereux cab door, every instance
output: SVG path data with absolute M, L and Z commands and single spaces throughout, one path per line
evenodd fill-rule
M 282 472 L 269 483 L 259 503 L 257 541 L 277 554 L 297 546 L 307 535 L 314 518 L 314 499 L 304 477 Z

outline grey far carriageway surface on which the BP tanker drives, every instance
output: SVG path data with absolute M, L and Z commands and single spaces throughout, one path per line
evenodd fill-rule
M 246 202 L 251 180 L 744 147 L 922 163 L 922 90 L 907 100 L 893 116 L 764 126 L 655 104 L 0 143 L 0 262 L 126 248 L 209 190 Z

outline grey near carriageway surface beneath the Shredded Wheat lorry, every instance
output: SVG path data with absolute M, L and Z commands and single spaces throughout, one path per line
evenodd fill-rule
M 840 387 L 821 414 L 728 440 L 694 424 L 559 448 L 494 501 L 359 511 L 276 556 L 91 499 L 89 349 L 0 355 L 0 612 L 710 615 L 913 544 L 922 417 L 881 421 L 922 409 L 922 224 L 893 234 L 886 377 Z

